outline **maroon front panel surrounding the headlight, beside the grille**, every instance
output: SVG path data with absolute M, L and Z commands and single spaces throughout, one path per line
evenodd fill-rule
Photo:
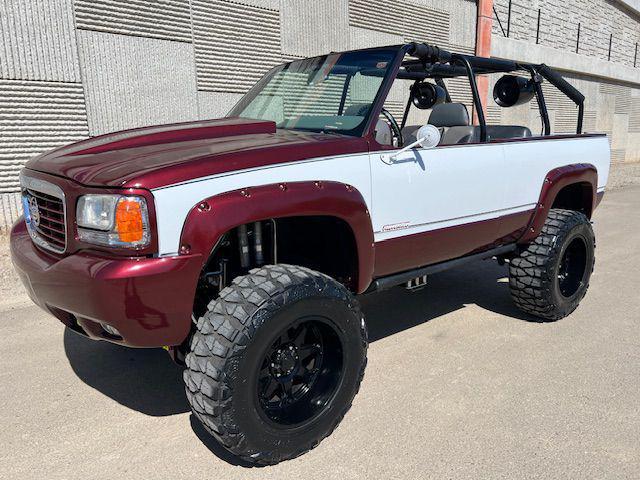
M 113 189 L 113 188 L 91 188 L 79 185 L 76 182 L 67 180 L 66 178 L 55 177 L 52 175 L 46 175 L 34 170 L 25 169 L 24 173 L 33 178 L 45 180 L 49 183 L 53 183 L 62 188 L 65 194 L 65 207 L 67 210 L 67 249 L 62 255 L 66 256 L 73 254 L 81 250 L 94 251 L 98 255 L 108 256 L 148 256 L 158 251 L 158 235 L 156 224 L 156 211 L 153 201 L 153 195 L 148 190 L 138 188 L 126 188 L 126 189 Z M 118 247 L 102 247 L 99 245 L 93 245 L 90 243 L 82 242 L 78 237 L 78 225 L 76 222 L 76 206 L 78 204 L 78 198 L 82 195 L 91 193 L 114 193 L 120 195 L 138 195 L 144 197 L 147 201 L 147 208 L 149 211 L 149 228 L 151 230 L 151 242 L 148 246 L 139 249 L 130 248 L 118 248 Z

